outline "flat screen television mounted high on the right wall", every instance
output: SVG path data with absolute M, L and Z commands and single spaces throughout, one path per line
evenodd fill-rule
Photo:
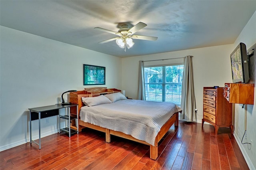
M 236 49 L 230 54 L 230 58 L 233 83 L 248 83 L 250 78 L 246 45 L 239 43 Z

